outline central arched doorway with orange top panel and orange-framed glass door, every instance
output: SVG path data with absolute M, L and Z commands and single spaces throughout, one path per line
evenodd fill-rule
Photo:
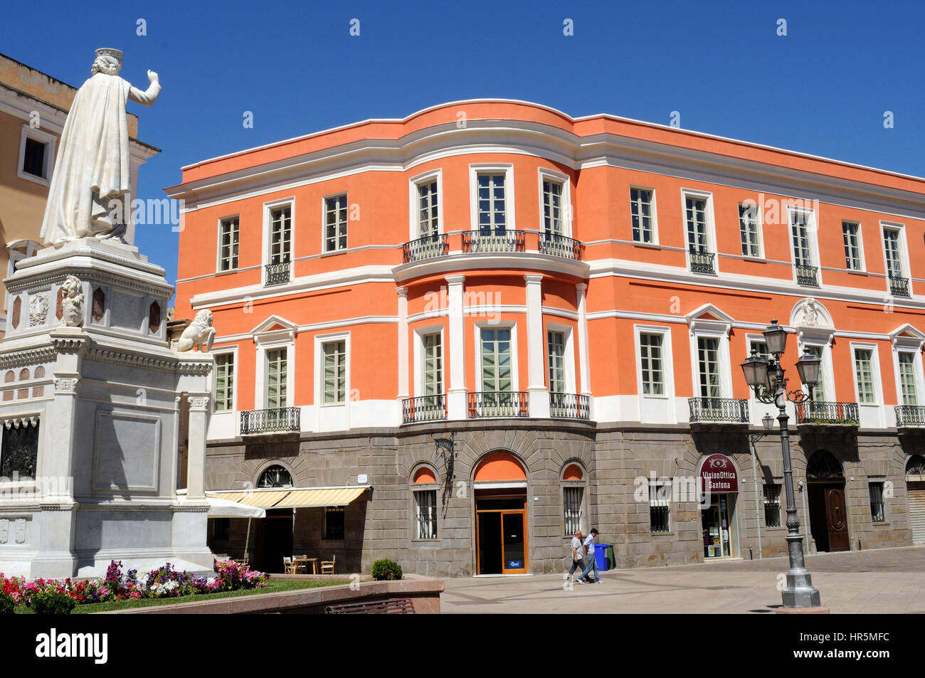
M 479 574 L 528 572 L 526 472 L 509 452 L 475 466 L 475 544 Z

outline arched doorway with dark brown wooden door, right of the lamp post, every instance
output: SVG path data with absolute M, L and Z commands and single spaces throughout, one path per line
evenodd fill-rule
M 807 463 L 809 530 L 817 551 L 850 549 L 845 475 L 831 452 L 817 450 Z

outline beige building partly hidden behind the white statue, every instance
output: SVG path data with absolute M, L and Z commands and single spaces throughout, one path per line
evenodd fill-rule
M 93 54 L 87 55 L 87 77 Z M 0 54 L 0 278 L 41 249 L 39 231 L 48 184 L 55 171 L 57 141 L 77 88 Z M 129 113 L 131 185 L 138 167 L 159 149 L 139 142 L 138 117 Z M 134 241 L 134 225 L 126 240 Z M 6 330 L 6 287 L 0 282 L 0 336 Z

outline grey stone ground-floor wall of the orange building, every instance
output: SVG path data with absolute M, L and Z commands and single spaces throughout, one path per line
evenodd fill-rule
M 435 438 L 454 438 L 452 477 L 435 446 Z M 754 434 L 755 432 L 751 432 Z M 295 487 L 357 485 L 366 475 L 367 490 L 344 514 L 344 539 L 325 538 L 325 510 L 294 512 L 292 552 L 319 560 L 336 557 L 338 572 L 369 573 L 373 561 L 390 558 L 405 572 L 432 576 L 477 573 L 475 535 L 475 467 L 488 454 L 506 451 L 523 463 L 526 473 L 528 569 L 557 573 L 568 567 L 569 542 L 563 517 L 562 471 L 575 463 L 583 469 L 582 527 L 596 526 L 598 541 L 613 546 L 618 567 L 702 562 L 704 539 L 700 506 L 692 496 L 672 497 L 669 531 L 653 533 L 649 520 L 648 481 L 664 478 L 679 487 L 694 487 L 700 461 L 714 453 L 733 460 L 738 475 L 732 523 L 734 556 L 759 558 L 786 553 L 785 497 L 781 491 L 781 527 L 765 523 L 763 485 L 783 484 L 783 458 L 776 434 L 751 436 L 743 428 L 718 426 L 691 430 L 686 425 L 605 427 L 584 422 L 479 421 L 402 426 L 400 429 L 351 431 L 349 434 L 303 435 L 302 438 L 212 445 L 206 460 L 207 489 L 255 487 L 263 471 L 281 465 Z M 911 544 L 907 520 L 905 467 L 910 454 L 921 453 L 925 438 L 895 432 L 857 432 L 845 428 L 792 431 L 791 454 L 797 517 L 808 533 L 806 469 L 808 454 L 826 450 L 841 464 L 845 508 L 852 550 Z M 753 462 L 754 460 L 754 462 Z M 438 538 L 418 539 L 413 475 L 426 467 L 436 476 Z M 756 483 L 758 480 L 758 497 Z M 886 482 L 883 523 L 873 523 L 869 482 Z M 213 536 L 216 553 L 239 556 L 248 544 L 260 566 L 258 521 L 233 519 L 228 538 Z M 226 536 L 226 535 L 219 535 Z M 760 536 L 760 548 L 759 548 Z M 809 549 L 814 549 L 811 538 Z

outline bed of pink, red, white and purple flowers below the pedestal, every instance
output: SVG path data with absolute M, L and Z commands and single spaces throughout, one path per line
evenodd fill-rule
M 263 588 L 269 576 L 235 561 L 217 562 L 216 574 L 208 577 L 179 572 L 168 562 L 140 579 L 137 570 L 123 574 L 121 561 L 110 562 L 105 576 L 95 581 L 72 582 L 68 578 L 26 582 L 23 577 L 6 577 L 0 573 L 0 613 L 28 607 L 39 614 L 67 614 L 75 606 L 89 603 L 179 598 Z

